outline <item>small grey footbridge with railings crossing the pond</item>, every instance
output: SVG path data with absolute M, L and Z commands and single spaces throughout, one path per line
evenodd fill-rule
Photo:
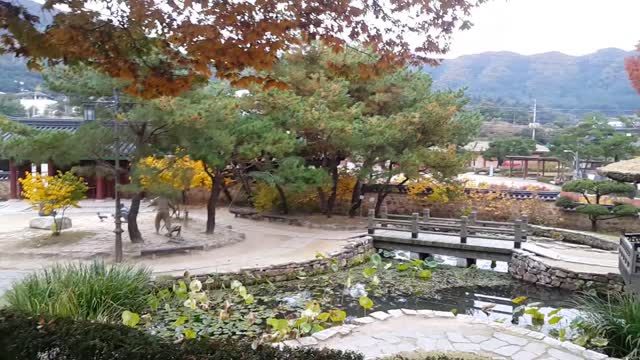
M 481 221 L 476 212 L 460 219 L 434 218 L 429 209 L 422 214 L 382 214 L 376 218 L 369 210 L 368 233 L 379 249 L 406 250 L 467 258 L 467 265 L 476 259 L 511 261 L 513 249 L 527 241 L 526 216 L 515 222 Z

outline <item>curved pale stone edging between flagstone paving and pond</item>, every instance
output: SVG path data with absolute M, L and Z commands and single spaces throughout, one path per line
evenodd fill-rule
M 375 315 L 374 315 L 375 314 Z M 307 337 L 302 337 L 296 340 L 287 340 L 281 343 L 276 343 L 274 344 L 274 346 L 277 347 L 284 347 L 284 346 L 288 346 L 288 347 L 311 347 L 311 346 L 322 346 L 322 342 L 326 341 L 332 337 L 335 336 L 339 336 L 339 337 L 345 337 L 348 336 L 349 334 L 351 334 L 351 332 L 354 329 L 357 329 L 361 326 L 366 326 L 368 324 L 372 324 L 376 321 L 386 321 L 390 318 L 398 318 L 401 316 L 418 316 L 418 317 L 425 317 L 425 318 L 447 318 L 447 319 L 456 319 L 457 321 L 460 321 L 461 323 L 466 323 L 466 324 L 483 324 L 486 326 L 490 326 L 496 330 L 500 330 L 500 331 L 508 331 L 511 332 L 515 335 L 521 336 L 521 337 L 525 337 L 525 338 L 529 338 L 530 341 L 532 343 L 545 343 L 549 346 L 552 347 L 558 347 L 558 348 L 562 348 L 562 351 L 568 351 L 570 352 L 572 355 L 576 355 L 579 356 L 583 359 L 589 359 L 589 360 L 619 360 L 616 358 L 610 358 L 607 357 L 607 355 L 605 354 L 601 354 L 598 353 L 596 351 L 593 350 L 589 350 L 586 349 L 582 346 L 576 345 L 570 341 L 559 341 L 553 337 L 547 336 L 541 332 L 536 332 L 536 331 L 531 331 L 531 330 L 527 330 L 525 328 L 519 327 L 519 326 L 515 326 L 512 324 L 507 324 L 507 323 L 499 323 L 499 322 L 494 322 L 494 321 L 489 321 L 489 320 L 480 320 L 480 319 L 476 319 L 471 315 L 465 315 L 465 314 L 461 314 L 461 315 L 454 315 L 453 313 L 450 312 L 445 312 L 445 311 L 434 311 L 434 310 L 411 310 L 411 309 L 393 309 L 393 310 L 388 310 L 387 312 L 384 311 L 376 311 L 374 313 L 371 313 L 370 316 L 366 316 L 366 317 L 361 317 L 361 318 L 357 318 L 353 320 L 354 324 L 345 324 L 345 325 L 341 325 L 341 326 L 337 326 L 337 327 L 332 327 L 332 328 L 328 328 L 322 331 L 319 331 L 317 333 L 314 333 L 311 336 L 307 336 Z M 501 340 L 503 340 L 506 344 L 513 344 L 513 343 L 517 343 L 518 341 L 521 341 L 522 338 L 520 337 L 515 337 L 515 336 L 511 336 L 509 334 L 504 334 L 504 333 L 499 333 L 501 336 Z M 379 336 L 383 336 L 383 335 L 379 335 Z M 391 335 L 389 335 L 391 336 Z M 462 335 L 460 335 L 462 337 Z M 374 336 L 375 337 L 375 336 Z M 525 343 L 526 344 L 526 343 Z M 525 345 L 525 344 L 520 344 L 521 346 Z M 506 345 L 506 347 L 508 347 L 509 345 Z M 551 350 L 556 350 L 556 349 L 549 349 Z M 557 350 L 556 350 L 557 351 Z M 459 352 L 459 351 L 457 351 Z M 463 352 L 469 352 L 469 353 L 474 353 L 475 351 L 463 351 Z M 389 354 L 391 355 L 391 354 Z M 509 356 L 509 355 L 507 355 Z

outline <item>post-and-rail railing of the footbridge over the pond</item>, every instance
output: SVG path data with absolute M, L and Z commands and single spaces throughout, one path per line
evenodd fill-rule
M 466 244 L 469 237 L 475 239 L 513 241 L 514 248 L 519 249 L 521 243 L 527 241 L 528 219 L 523 216 L 515 222 L 481 221 L 477 213 L 462 216 L 460 219 L 434 218 L 429 209 L 411 215 L 397 215 L 383 212 L 380 218 L 375 217 L 375 211 L 369 210 L 368 233 L 375 234 L 376 230 L 389 230 L 411 233 L 411 238 L 417 239 L 419 234 L 451 234 L 460 237 L 460 243 Z

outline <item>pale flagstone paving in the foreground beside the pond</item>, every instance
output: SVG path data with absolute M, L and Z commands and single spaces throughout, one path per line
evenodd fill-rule
M 355 320 L 359 325 L 329 328 L 288 346 L 351 350 L 377 359 L 406 352 L 463 352 L 492 359 L 607 359 L 570 342 L 524 328 L 431 310 L 389 310 Z

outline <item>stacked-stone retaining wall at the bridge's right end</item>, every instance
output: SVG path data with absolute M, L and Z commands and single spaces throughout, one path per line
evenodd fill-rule
M 548 266 L 539 257 L 523 250 L 514 250 L 509 264 L 509 273 L 515 279 L 572 291 L 595 289 L 599 292 L 622 292 L 624 290 L 624 281 L 620 274 L 575 273 Z

